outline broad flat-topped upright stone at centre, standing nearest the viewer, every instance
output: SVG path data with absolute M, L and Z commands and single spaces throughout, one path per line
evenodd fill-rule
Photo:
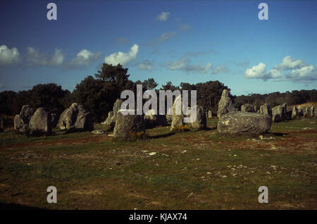
M 116 125 L 113 130 L 113 137 L 120 139 L 130 139 L 135 135 L 143 135 L 145 124 L 141 115 L 123 115 L 133 110 L 119 110 L 117 113 Z

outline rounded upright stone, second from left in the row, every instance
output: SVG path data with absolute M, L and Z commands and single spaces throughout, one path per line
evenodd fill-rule
M 51 113 L 49 113 L 49 111 L 46 111 L 46 109 L 43 107 L 38 108 L 30 119 L 29 128 L 31 134 L 45 133 L 46 135 L 50 135 Z

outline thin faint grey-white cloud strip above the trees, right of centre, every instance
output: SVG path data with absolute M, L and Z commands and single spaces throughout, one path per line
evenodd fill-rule
M 211 69 L 212 64 L 207 63 L 206 66 L 203 66 L 201 63 L 193 65 L 191 64 L 191 61 L 188 58 L 182 58 L 174 62 L 166 61 L 165 66 L 168 66 L 169 70 L 182 70 L 187 73 L 189 72 L 206 73 L 207 70 Z

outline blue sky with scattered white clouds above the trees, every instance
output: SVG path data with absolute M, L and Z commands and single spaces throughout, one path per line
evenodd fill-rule
M 46 5 L 56 3 L 57 20 Z M 261 2 L 268 20 L 259 20 Z M 317 1 L 0 1 L 0 91 L 73 91 L 101 63 L 232 94 L 316 89 Z M 121 52 L 121 53 L 118 53 Z

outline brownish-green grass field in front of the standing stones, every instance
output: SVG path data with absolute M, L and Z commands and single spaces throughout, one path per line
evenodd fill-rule
M 177 134 L 157 127 L 136 142 L 113 142 L 111 132 L 0 133 L 1 206 L 317 209 L 317 118 L 273 123 L 262 139 L 219 135 L 217 122 Z M 49 186 L 56 204 L 46 202 Z M 260 186 L 268 204 L 258 201 Z

